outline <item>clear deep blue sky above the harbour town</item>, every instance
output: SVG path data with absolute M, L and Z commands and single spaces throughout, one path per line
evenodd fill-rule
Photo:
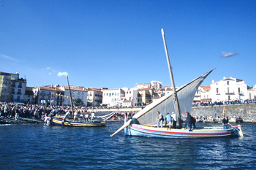
M 27 86 L 176 86 L 214 69 L 256 84 L 256 1 L 0 0 L 0 72 Z M 222 53 L 236 53 L 223 58 Z

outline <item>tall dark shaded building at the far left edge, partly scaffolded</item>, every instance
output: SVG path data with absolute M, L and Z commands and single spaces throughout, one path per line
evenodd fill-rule
M 16 72 L 0 72 L 0 101 L 25 102 L 26 79 Z

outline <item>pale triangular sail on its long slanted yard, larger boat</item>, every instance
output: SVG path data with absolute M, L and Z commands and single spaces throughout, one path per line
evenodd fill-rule
M 176 91 L 181 113 L 191 112 L 192 101 L 193 98 L 195 97 L 195 92 L 197 91 L 198 87 L 201 85 L 203 80 L 205 80 L 208 74 L 210 74 L 212 71 L 214 71 L 214 69 L 207 72 L 206 74 L 201 75 L 200 77 L 197 77 L 195 80 L 192 80 L 191 82 L 187 83 L 187 85 L 184 85 Z M 162 113 L 162 115 L 166 115 L 167 112 L 176 112 L 175 104 L 173 101 L 173 95 L 169 94 L 157 99 L 157 101 L 154 101 L 153 103 L 149 104 L 147 107 L 140 110 L 140 112 L 138 112 L 133 117 L 138 119 L 140 124 L 142 125 L 152 125 L 156 122 L 157 111 Z M 129 123 L 130 120 L 123 126 L 121 126 L 121 128 L 119 128 L 111 136 L 114 136 L 119 131 L 126 128 L 129 125 Z

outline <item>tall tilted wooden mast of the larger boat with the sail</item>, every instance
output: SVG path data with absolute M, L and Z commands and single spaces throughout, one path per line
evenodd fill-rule
M 177 115 L 178 115 L 178 125 L 181 128 L 182 124 L 181 124 L 181 112 L 179 109 L 179 105 L 178 105 L 178 98 L 177 98 L 177 94 L 176 94 L 176 88 L 175 88 L 175 84 L 174 84 L 174 80 L 173 80 L 173 72 L 172 72 L 172 67 L 170 66 L 170 60 L 169 60 L 169 55 L 168 55 L 168 50 L 167 50 L 167 46 L 165 43 L 165 32 L 163 29 L 161 29 L 162 31 L 162 40 L 164 41 L 164 45 L 165 45 L 165 55 L 167 58 L 167 63 L 168 63 L 168 67 L 169 67 L 169 73 L 170 73 L 170 80 L 172 82 L 173 85 L 173 99 L 176 105 L 176 111 L 177 111 Z

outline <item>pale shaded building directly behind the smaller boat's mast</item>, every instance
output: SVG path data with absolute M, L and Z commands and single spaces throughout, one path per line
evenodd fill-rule
M 83 101 L 83 104 L 85 104 L 85 106 L 87 106 L 87 96 L 88 96 L 88 91 L 86 90 L 86 88 L 75 88 L 75 86 L 69 86 L 70 87 L 70 93 L 73 99 L 73 102 L 80 98 L 81 101 Z M 68 86 L 65 87 L 61 87 L 64 90 L 64 106 L 70 106 L 70 96 L 69 96 L 69 88 Z M 67 97 L 69 96 L 69 97 Z

